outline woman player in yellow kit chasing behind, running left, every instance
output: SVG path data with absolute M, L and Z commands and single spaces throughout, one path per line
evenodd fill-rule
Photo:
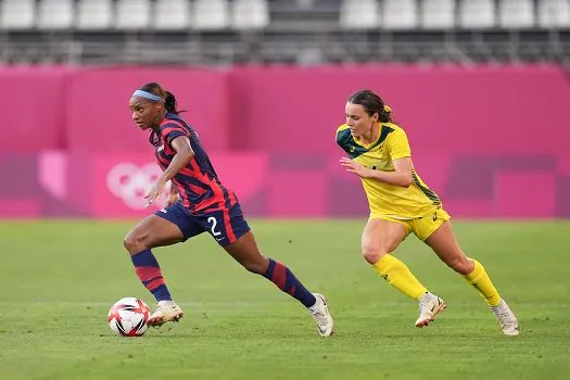
M 406 132 L 392 122 L 392 110 L 373 91 L 362 90 L 350 97 L 345 113 L 346 124 L 337 129 L 337 142 L 350 159 L 342 157 L 341 165 L 360 177 L 370 206 L 362 253 L 391 286 L 419 302 L 416 327 L 428 326 L 445 303 L 391 254 L 409 232 L 477 288 L 505 334 L 518 335 L 515 314 L 484 267 L 461 251 L 440 198 L 414 169 Z

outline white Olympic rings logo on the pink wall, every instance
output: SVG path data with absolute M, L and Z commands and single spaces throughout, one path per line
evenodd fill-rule
M 131 210 L 144 208 L 144 195 L 161 176 L 162 172 L 154 163 L 138 166 L 132 163 L 119 163 L 111 168 L 106 175 L 106 187 L 111 193 Z M 167 186 L 166 192 L 169 190 Z M 165 200 L 167 197 L 162 197 Z M 159 200 L 161 201 L 161 200 Z M 154 205 L 162 207 L 163 202 Z

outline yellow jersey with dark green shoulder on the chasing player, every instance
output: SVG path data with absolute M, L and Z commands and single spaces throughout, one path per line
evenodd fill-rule
M 381 123 L 378 139 L 369 144 L 354 139 L 349 126 L 343 124 L 337 129 L 337 143 L 351 159 L 376 170 L 394 172 L 394 160 L 411 156 L 406 132 L 393 123 Z M 440 207 L 440 198 L 421 180 L 414 166 L 411 178 L 408 188 L 360 178 L 370 214 L 414 219 Z

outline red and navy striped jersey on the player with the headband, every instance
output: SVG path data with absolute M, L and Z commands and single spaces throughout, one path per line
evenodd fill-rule
M 172 178 L 182 205 L 190 213 L 197 215 L 211 213 L 230 208 L 238 203 L 236 194 L 219 181 L 197 132 L 180 116 L 167 113 L 159 131 L 152 135 L 154 154 L 163 170 L 170 165 L 176 154 L 170 145 L 172 141 L 179 136 L 186 136 L 190 140 L 194 156 Z

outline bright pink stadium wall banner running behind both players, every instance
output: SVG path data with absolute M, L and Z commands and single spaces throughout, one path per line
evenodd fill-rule
M 334 130 L 346 97 L 372 88 L 454 216 L 570 216 L 560 68 L 360 66 L 0 68 L 0 217 L 145 215 L 140 195 L 156 167 L 127 102 L 153 80 L 189 110 L 249 215 L 366 215 L 358 180 L 338 165 Z

